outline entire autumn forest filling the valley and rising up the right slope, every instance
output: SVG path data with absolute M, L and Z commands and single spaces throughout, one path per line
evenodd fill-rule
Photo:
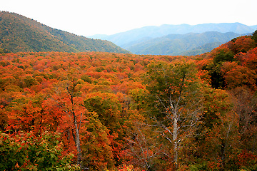
M 257 170 L 256 46 L 3 53 L 0 170 Z

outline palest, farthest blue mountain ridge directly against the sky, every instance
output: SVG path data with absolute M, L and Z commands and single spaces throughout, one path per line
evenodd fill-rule
M 130 31 L 122 33 L 116 33 L 113 35 L 95 35 L 89 36 L 91 38 L 105 39 L 116 43 L 116 45 L 124 48 L 127 43 L 138 41 L 141 38 L 157 38 L 166 36 L 168 34 L 186 34 L 186 33 L 204 33 L 207 31 L 218 31 L 221 33 L 234 32 L 234 33 L 252 33 L 255 31 L 256 26 L 246 26 L 240 23 L 221 23 L 221 24 L 198 24 L 198 25 L 168 25 L 161 26 L 145 26 L 142 28 L 136 28 Z

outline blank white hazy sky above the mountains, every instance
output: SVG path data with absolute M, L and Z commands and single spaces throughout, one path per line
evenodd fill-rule
M 143 26 L 239 22 L 257 25 L 257 0 L 0 0 L 15 12 L 79 36 Z

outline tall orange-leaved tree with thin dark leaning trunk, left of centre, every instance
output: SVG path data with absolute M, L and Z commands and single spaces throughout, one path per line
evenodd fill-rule
M 75 73 L 74 68 L 71 68 L 67 74 L 67 79 L 56 83 L 52 100 L 53 103 L 56 103 L 56 107 L 59 107 L 64 112 L 63 118 L 65 118 L 64 122 L 66 124 L 63 124 L 63 127 L 66 126 L 66 129 L 71 131 L 76 145 L 77 164 L 82 169 L 84 167 L 82 165 L 80 129 L 86 108 L 83 106 L 83 99 L 79 91 L 79 81 L 74 76 Z

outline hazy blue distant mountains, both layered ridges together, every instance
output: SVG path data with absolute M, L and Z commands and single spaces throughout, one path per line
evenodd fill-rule
M 112 41 L 136 54 L 196 55 L 211 51 L 237 36 L 253 33 L 256 28 L 239 23 L 162 25 L 91 38 Z

